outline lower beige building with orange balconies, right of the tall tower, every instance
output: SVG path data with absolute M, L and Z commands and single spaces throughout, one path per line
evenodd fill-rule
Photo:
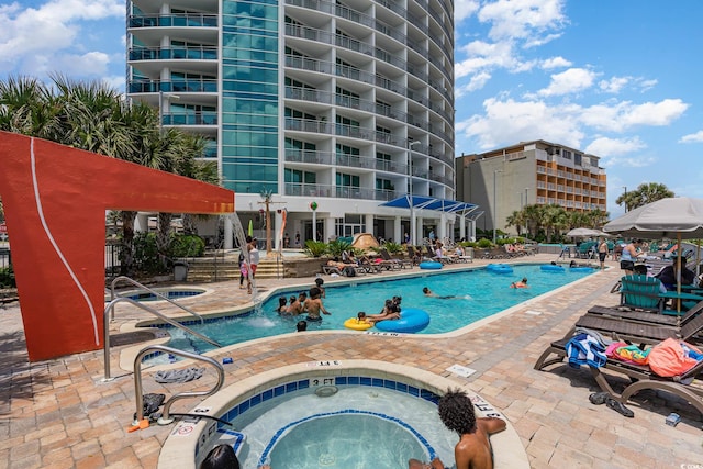
M 505 219 L 525 205 L 558 204 L 567 211 L 605 212 L 605 169 L 600 157 L 545 141 L 461 155 L 457 198 L 484 211 L 477 227 L 509 231 Z

